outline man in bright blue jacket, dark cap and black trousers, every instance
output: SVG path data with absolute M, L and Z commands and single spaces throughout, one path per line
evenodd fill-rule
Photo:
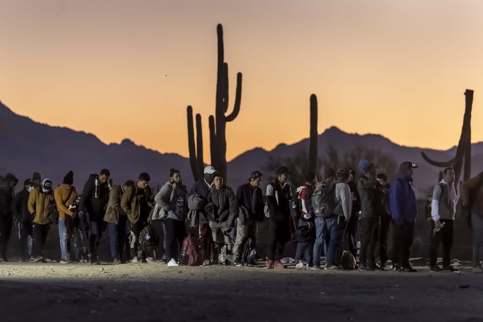
M 389 190 L 389 204 L 394 224 L 392 251 L 393 270 L 416 272 L 409 263 L 409 253 L 414 237 L 414 223 L 418 215 L 416 193 L 413 187 L 413 169 L 417 166 L 405 161 L 399 166 L 399 177 Z

